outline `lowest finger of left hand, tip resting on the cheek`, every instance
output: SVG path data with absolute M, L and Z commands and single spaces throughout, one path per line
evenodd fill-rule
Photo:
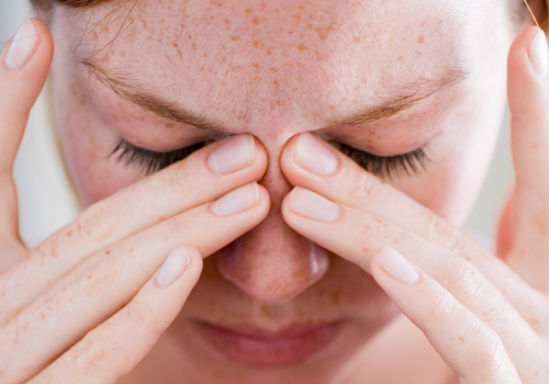
M 64 377 L 70 377 L 70 383 L 116 383 L 145 358 L 173 321 L 201 270 L 202 258 L 197 250 L 176 248 L 126 306 L 29 383 L 63 383 Z

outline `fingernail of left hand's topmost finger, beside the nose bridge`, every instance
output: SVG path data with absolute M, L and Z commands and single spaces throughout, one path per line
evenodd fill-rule
M 254 161 L 255 143 L 251 135 L 229 138 L 216 148 L 208 159 L 210 168 L 220 173 L 233 173 Z

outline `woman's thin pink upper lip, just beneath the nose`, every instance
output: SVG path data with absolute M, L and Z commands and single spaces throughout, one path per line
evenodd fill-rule
M 317 324 L 293 324 L 289 327 L 277 329 L 277 330 L 267 330 L 254 325 L 242 324 L 242 325 L 232 325 L 232 326 L 221 326 L 209 321 L 199 320 L 199 324 L 205 325 L 208 327 L 215 328 L 220 331 L 233 334 L 239 337 L 246 338 L 255 338 L 255 339 L 291 339 L 303 337 L 307 334 L 314 332 L 325 327 L 330 327 L 340 323 L 337 321 L 326 321 L 326 323 L 317 323 Z

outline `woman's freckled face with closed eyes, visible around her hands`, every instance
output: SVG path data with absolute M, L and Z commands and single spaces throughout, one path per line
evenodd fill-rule
M 280 202 L 291 185 L 280 151 L 303 132 L 379 156 L 424 147 L 425 171 L 388 182 L 461 224 L 504 106 L 507 7 L 500 0 L 142 0 L 55 9 L 58 122 L 85 205 L 144 177 L 139 166 L 110 156 L 120 137 L 167 151 L 250 133 L 269 155 L 260 181 L 272 200 L 268 217 L 204 260 L 165 336 L 181 374 L 208 383 L 320 383 L 352 369 L 359 349 L 396 310 L 369 274 L 285 225 Z M 155 103 L 216 129 L 144 106 Z M 369 118 L 357 117 L 365 113 Z M 235 360 L 217 354 L 195 331 L 197 318 L 269 330 L 343 323 L 320 352 L 292 362 L 257 346 L 255 355 L 244 355 L 249 346 L 234 351 Z

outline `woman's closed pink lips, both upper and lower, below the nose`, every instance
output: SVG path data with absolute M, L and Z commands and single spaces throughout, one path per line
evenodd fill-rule
M 261 338 L 205 323 L 197 323 L 205 341 L 229 360 L 250 366 L 280 366 L 302 361 L 327 347 L 341 321 L 325 324 L 303 334 Z

